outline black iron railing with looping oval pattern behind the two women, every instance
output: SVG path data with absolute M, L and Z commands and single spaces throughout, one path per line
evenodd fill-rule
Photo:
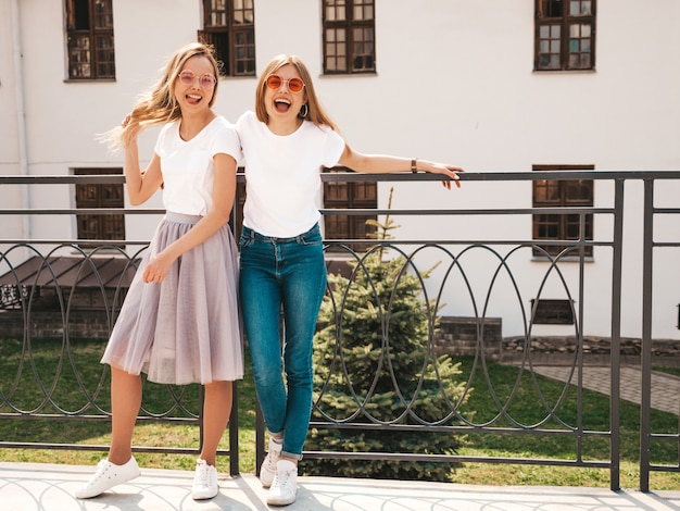
M 242 179 L 242 176 L 239 177 Z M 330 173 L 323 175 L 328 182 L 378 180 L 378 182 L 426 182 L 438 180 L 437 176 L 423 174 L 365 175 L 354 173 Z M 467 236 L 456 239 L 457 232 L 452 228 L 428 230 L 442 233 L 441 236 L 427 239 L 399 238 L 381 240 L 327 240 L 335 250 L 329 258 L 340 258 L 351 262 L 345 267 L 344 277 L 331 279 L 328 288 L 324 312 L 319 319 L 319 335 L 331 332 L 333 341 L 325 348 L 315 348 L 318 357 L 325 358 L 324 364 L 317 364 L 315 384 L 315 404 L 313 410 L 312 429 L 349 432 L 380 431 L 390 432 L 416 431 L 423 435 L 534 435 L 540 437 L 568 437 L 574 439 L 574 450 L 561 459 L 536 459 L 522 456 L 507 457 L 470 457 L 457 453 L 423 453 L 423 452 L 375 452 L 351 451 L 351 449 L 331 450 L 322 448 L 305 452 L 310 459 L 390 459 L 415 460 L 427 462 L 459 463 L 490 462 L 519 463 L 541 465 L 567 465 L 577 468 L 608 469 L 610 487 L 619 487 L 619 444 L 620 444 L 620 365 L 621 365 L 621 300 L 624 279 L 624 227 L 625 213 L 632 211 L 632 204 L 625 207 L 626 185 L 631 182 L 644 183 L 644 204 L 642 212 L 644 225 L 642 239 L 639 240 L 644 253 L 642 273 L 642 329 L 641 369 L 642 369 L 642 425 L 641 438 L 641 482 L 643 490 L 648 489 L 651 471 L 680 472 L 680 462 L 671 464 L 654 463 L 650 457 L 650 447 L 655 443 L 675 443 L 680 445 L 678 431 L 675 433 L 655 433 L 651 423 L 651 386 L 653 362 L 653 319 L 652 303 L 655 296 L 654 253 L 660 250 L 673 251 L 680 247 L 680 237 L 655 241 L 653 237 L 655 220 L 672 217 L 680 213 L 680 199 L 670 207 L 654 204 L 656 186 L 680 180 L 678 171 L 569 171 L 569 172 L 513 172 L 513 173 L 467 173 L 463 175 L 464 188 L 475 182 L 506 184 L 530 183 L 534 179 L 594 179 L 595 183 L 609 183 L 612 186 L 610 203 L 604 207 L 579 208 L 507 208 L 483 204 L 474 209 L 436 209 L 436 210 L 323 210 L 324 215 L 335 214 L 375 214 L 381 219 L 390 217 L 427 217 L 440 225 L 457 225 L 465 217 L 475 215 L 491 222 L 502 223 L 507 217 L 531 219 L 534 214 L 571 214 L 580 219 L 580 232 L 584 233 L 587 215 L 597 220 L 597 236 L 588 239 L 579 236 L 572 240 L 541 240 L 538 244 L 529 236 L 512 239 L 506 233 L 493 236 Z M 38 176 L 14 177 L 0 176 L 0 184 L 33 186 L 36 184 L 73 185 L 75 183 L 119 183 L 122 176 Z M 480 189 L 480 188 L 476 188 Z M 632 191 L 631 191 L 632 192 Z M 452 192 L 455 194 L 455 192 Z M 628 197 L 628 195 L 626 196 Z M 628 199 L 627 199 L 628 200 Z M 7 219 L 24 215 L 75 215 L 121 213 L 160 214 L 153 209 L 123 210 L 74 210 L 74 209 L 32 209 L 0 210 Z M 530 220 L 527 220 L 527 225 Z M 656 223 L 658 225 L 658 222 Z M 677 224 L 676 224 L 677 225 Z M 603 226 L 602 228 L 600 228 Z M 489 232 L 490 229 L 484 229 Z M 670 229 L 672 232 L 672 229 Z M 399 233 L 396 233 L 399 234 Z M 677 235 L 678 233 L 676 233 Z M 83 249 L 78 240 L 64 239 L 0 239 L 0 275 L 3 275 L 0 310 L 0 346 L 4 351 L 14 353 L 4 359 L 0 371 L 0 420 L 2 417 L 39 417 L 50 420 L 109 420 L 110 412 L 105 398 L 108 382 L 105 366 L 98 366 L 95 358 L 87 359 L 78 348 L 89 346 L 84 332 L 91 328 L 88 321 L 100 314 L 103 324 L 101 338 L 106 337 L 122 303 L 126 278 L 136 267 L 137 260 L 146 249 L 147 240 L 125 240 L 127 250 L 121 244 L 112 245 L 106 240 L 88 240 L 98 245 L 96 249 Z M 628 240 L 630 242 L 630 240 Z M 637 242 L 637 241 L 635 241 Z M 134 248 L 136 247 L 137 248 Z M 366 251 L 355 251 L 350 247 L 365 246 Z M 566 247 L 558 256 L 551 256 L 547 246 Z M 41 250 L 41 247 L 47 247 Z M 597 262 L 607 266 L 607 282 L 593 283 L 588 264 L 591 258 L 587 247 L 600 247 Z M 33 257 L 30 269 L 22 267 L 15 262 L 16 253 L 22 252 L 22 261 Z M 542 253 L 541 264 L 536 264 L 529 272 L 527 261 L 537 260 L 536 251 Z M 30 257 L 27 257 L 30 256 Z M 373 266 L 376 258 L 381 264 L 392 264 L 389 278 L 376 276 Z M 102 267 L 102 260 L 115 259 L 117 273 L 113 276 Z M 606 264 L 605 264 L 606 263 Z M 62 267 L 70 264 L 68 267 Z M 62 265 L 59 266 L 58 265 Z M 432 266 L 437 265 L 435 270 Z M 542 269 L 542 273 L 538 269 Z M 27 278 L 22 272 L 29 274 Z M 529 275 L 530 274 L 530 275 Z M 68 285 L 63 285 L 64 275 L 68 275 Z M 597 273 L 602 278 L 603 273 Z M 391 279 L 390 282 L 387 282 Z M 87 283 L 87 285 L 86 285 Z M 387 285 L 387 289 L 386 289 Z M 607 286 L 607 308 L 610 311 L 609 335 L 610 349 L 604 359 L 610 370 L 609 378 L 609 414 L 610 423 L 606 428 L 590 427 L 590 420 L 584 412 L 582 397 L 582 379 L 589 370 L 588 353 L 584 346 L 588 341 L 588 289 L 590 286 Z M 394 352 L 400 346 L 398 304 L 403 296 L 402 286 L 408 287 L 411 296 L 417 296 L 415 310 L 410 317 L 416 317 L 418 332 L 413 334 L 416 340 L 408 352 Z M 541 298 L 549 298 L 547 289 L 557 289 L 565 303 L 570 304 L 572 331 L 567 336 L 571 344 L 566 354 L 561 354 L 561 363 L 568 367 L 569 381 L 562 390 L 546 394 L 541 379 L 533 371 L 539 364 L 542 353 L 533 342 L 537 337 L 534 317 Z M 592 289 L 592 288 L 591 288 Z M 353 296 L 364 292 L 366 309 L 370 310 L 376 321 L 375 334 L 369 340 L 356 336 L 356 323 L 352 323 L 356 314 Z M 498 311 L 507 311 L 507 303 L 499 308 L 496 301 L 514 302 L 513 319 L 521 325 L 521 333 L 513 340 L 513 356 L 503 353 L 503 339 L 491 335 L 492 327 L 499 320 Z M 90 300 L 98 303 L 98 312 L 92 308 L 87 311 L 83 302 Z M 453 304 L 446 304 L 453 300 Z M 47 307 L 46 303 L 49 306 Z M 47 310 L 46 310 L 47 309 Z M 442 312 L 443 311 L 443 312 Z M 451 311 L 451 312 L 446 312 Z M 51 314 L 51 315 L 50 315 Z M 507 314 L 502 312 L 500 315 Z M 474 336 L 466 346 L 466 363 L 452 372 L 446 361 L 461 360 L 462 342 L 458 338 L 442 333 L 443 316 L 465 316 L 471 325 Z M 59 327 L 50 334 L 48 325 L 59 322 Z M 13 319 L 15 323 L 12 323 Z M 16 326 L 18 322 L 18 326 Z M 455 321 L 454 321 L 455 323 Z M 89 325 L 89 326 L 88 326 Z M 349 328 L 348 325 L 354 325 Z M 396 326 L 395 326 L 396 325 Z M 413 326 L 413 325 L 411 325 Z M 21 335 L 10 333 L 20 332 Z M 40 335 L 36 335 L 40 333 Z M 564 334 L 562 334 L 564 336 Z M 491 339 L 493 337 L 493 339 Z M 47 340 L 46 340 L 47 339 Z M 51 340 L 50 340 L 51 339 Z M 507 340 L 507 339 L 505 339 Z M 98 344 L 97 344 L 98 342 Z M 97 349 L 103 347 L 101 339 L 96 342 Z M 507 342 L 505 342 L 507 344 Z M 49 349 L 46 347 L 49 345 Z M 458 346 L 461 345 L 461 346 Z M 368 347 L 373 351 L 367 362 L 361 367 L 352 365 L 351 352 Z M 53 358 L 54 370 L 49 375 L 41 374 L 43 365 L 38 358 L 46 353 Z M 95 351 L 97 351 L 95 349 Z M 326 352 L 319 350 L 325 349 Z M 495 351 L 494 351 L 495 350 Z M 464 351 L 464 350 L 463 350 Z M 491 353 L 491 354 L 490 354 Z M 79 360 L 79 357 L 84 357 Z M 411 357 L 408 365 L 403 361 Z M 443 358 L 442 358 L 443 357 Z M 494 360 L 495 359 L 495 360 Z M 490 363 L 512 360 L 515 373 L 513 381 L 503 388 L 496 388 L 492 382 Z M 0 357 L 0 360 L 2 358 Z M 9 361 L 8 361 L 9 360 Z M 600 359 L 602 362 L 602 358 Z M 95 378 L 84 377 L 86 371 L 101 371 Z M 419 371 L 405 374 L 404 367 L 420 367 Z M 361 379 L 360 379 L 361 371 Z M 67 375 L 67 377 L 66 377 Z M 446 375 L 442 377 L 442 375 Z M 453 375 L 453 376 L 452 376 Z M 96 381 L 93 387 L 89 387 Z M 64 383 L 66 382 L 66 383 Z M 62 403 L 59 400 L 60 386 L 74 385 L 80 389 L 81 400 L 74 403 Z M 455 385 L 454 385 L 455 384 Z M 238 386 L 237 386 L 238 387 Z M 518 392 L 533 392 L 536 408 L 517 410 L 515 407 Z M 167 402 L 164 410 L 143 409 L 141 421 L 184 421 L 200 424 L 200 396 L 187 394 L 185 388 L 167 388 Z M 483 395 L 493 402 L 495 412 L 488 416 L 479 416 L 469 408 L 468 398 Z M 386 397 L 389 395 L 388 397 Z M 30 397 L 27 397 L 30 396 Z M 390 403 L 391 413 L 387 413 L 378 401 Z M 428 407 L 424 402 L 427 401 Z M 235 400 L 236 402 L 236 400 Z M 333 403 L 342 403 L 336 407 Z M 432 409 L 436 412 L 432 412 Z M 230 427 L 230 449 L 221 452 L 231 460 L 231 472 L 238 473 L 238 409 L 235 407 Z M 588 445 L 591 441 L 606 441 L 609 445 L 608 459 L 592 459 Z M 317 444 L 315 444 L 317 445 Z M 46 445 L 27 441 L 0 441 L 0 447 L 40 447 L 55 449 L 92 449 L 103 450 L 104 446 L 83 446 L 79 444 Z M 136 447 L 140 451 L 194 452 L 194 449 L 159 448 L 158 446 Z M 264 427 L 259 416 L 257 428 L 257 463 L 265 449 Z M 679 457 L 680 458 L 680 457 Z

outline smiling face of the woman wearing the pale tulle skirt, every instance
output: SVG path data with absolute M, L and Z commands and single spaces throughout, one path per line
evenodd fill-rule
M 191 74 L 193 79 L 190 79 Z M 210 109 L 215 94 L 215 80 L 211 86 L 206 75 L 216 78 L 215 70 L 207 57 L 193 55 L 187 59 L 175 79 L 175 98 L 182 111 L 198 112 Z

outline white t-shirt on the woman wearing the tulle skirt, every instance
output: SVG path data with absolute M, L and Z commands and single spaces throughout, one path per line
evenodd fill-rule
M 161 157 L 163 204 L 167 211 L 204 216 L 213 207 L 213 157 L 225 153 L 241 159 L 234 125 L 218 115 L 196 137 L 185 141 L 175 121 L 161 129 L 155 153 Z

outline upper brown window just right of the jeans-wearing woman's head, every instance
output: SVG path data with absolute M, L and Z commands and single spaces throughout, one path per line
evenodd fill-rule
M 375 0 L 322 0 L 322 24 L 324 74 L 376 73 Z

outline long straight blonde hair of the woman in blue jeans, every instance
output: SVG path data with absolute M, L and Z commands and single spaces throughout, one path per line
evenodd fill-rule
M 300 73 L 302 82 L 304 82 L 304 92 L 306 95 L 308 111 L 304 117 L 300 114 L 298 114 L 298 116 L 300 119 L 312 121 L 317 126 L 326 125 L 329 126 L 331 129 L 337 130 L 338 128 L 336 124 L 331 121 L 330 116 L 326 113 L 326 111 L 322 107 L 320 101 L 316 97 L 316 92 L 314 91 L 314 83 L 312 82 L 312 75 L 310 74 L 310 71 L 297 55 L 281 54 L 275 57 L 269 61 L 267 66 L 262 72 L 262 75 L 257 80 L 257 89 L 255 91 L 255 115 L 257 116 L 257 120 L 265 124 L 268 124 L 269 122 L 269 114 L 267 113 L 267 109 L 264 102 L 264 92 L 267 88 L 267 77 L 288 64 L 295 66 L 298 73 Z

